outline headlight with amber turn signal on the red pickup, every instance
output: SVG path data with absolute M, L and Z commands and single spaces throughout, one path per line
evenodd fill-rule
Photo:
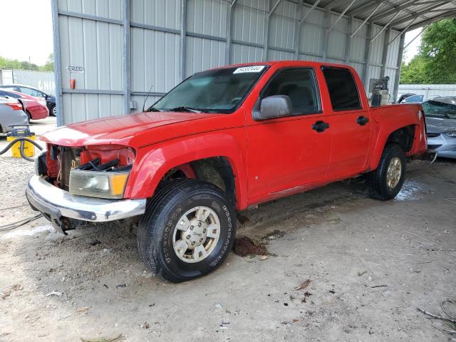
M 120 199 L 123 197 L 129 174 L 129 171 L 73 169 L 70 172 L 69 191 L 73 195 Z

